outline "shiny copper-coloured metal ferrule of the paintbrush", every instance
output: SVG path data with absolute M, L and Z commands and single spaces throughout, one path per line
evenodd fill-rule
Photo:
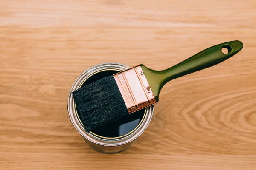
M 113 76 L 128 113 L 133 113 L 157 102 L 140 65 Z

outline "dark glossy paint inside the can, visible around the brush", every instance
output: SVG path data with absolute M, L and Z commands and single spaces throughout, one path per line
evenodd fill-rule
M 111 76 L 119 71 L 116 70 L 105 70 L 97 72 L 96 74 L 91 75 L 88 79 L 86 79 L 81 87 L 88 85 L 98 79 L 102 79 L 104 77 Z M 140 122 L 145 117 L 146 109 L 142 109 L 133 114 L 128 114 L 123 117 L 119 121 L 113 122 L 109 125 L 105 125 L 102 127 L 96 127 L 90 133 L 93 135 L 103 138 L 103 139 L 119 139 L 124 136 L 127 136 L 129 133 L 134 131 L 139 125 Z

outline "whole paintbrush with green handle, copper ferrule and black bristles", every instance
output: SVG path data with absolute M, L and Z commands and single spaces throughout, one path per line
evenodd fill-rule
M 140 64 L 73 91 L 85 130 L 106 125 L 158 102 L 163 86 L 172 79 L 219 64 L 243 48 L 240 41 L 212 46 L 162 71 Z M 223 49 L 227 50 L 224 54 Z M 136 114 L 136 113 L 134 113 Z

